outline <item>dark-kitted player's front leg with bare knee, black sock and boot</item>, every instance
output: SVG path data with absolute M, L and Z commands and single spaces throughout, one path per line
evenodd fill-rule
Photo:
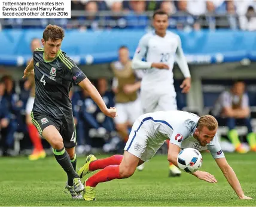
M 76 193 L 83 191 L 84 186 L 81 183 L 79 176 L 74 171 L 70 157 L 64 148 L 62 136 L 56 127 L 53 125 L 47 126 L 42 131 L 42 137 L 44 137 L 45 140 L 50 143 L 51 147 L 53 147 L 53 153 L 57 162 L 68 175 L 68 186 L 73 186 Z

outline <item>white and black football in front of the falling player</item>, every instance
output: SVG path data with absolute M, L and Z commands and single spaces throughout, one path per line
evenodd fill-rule
M 187 148 L 179 152 L 177 163 L 185 172 L 196 172 L 202 166 L 203 157 L 198 150 Z

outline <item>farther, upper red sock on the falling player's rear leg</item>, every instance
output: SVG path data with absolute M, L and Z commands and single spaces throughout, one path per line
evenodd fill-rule
M 109 165 L 120 165 L 123 155 L 113 155 L 105 159 L 97 159 L 90 163 L 89 171 L 96 171 L 97 169 L 104 169 Z

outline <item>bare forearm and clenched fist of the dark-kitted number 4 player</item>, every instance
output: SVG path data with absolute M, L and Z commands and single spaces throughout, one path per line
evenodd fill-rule
M 88 92 L 88 94 L 90 95 L 90 97 L 93 99 L 93 101 L 95 101 L 95 103 L 97 104 L 97 106 L 99 106 L 99 109 L 106 115 L 109 116 L 111 118 L 115 118 L 115 116 L 117 116 L 117 109 L 115 109 L 115 107 L 110 107 L 110 109 L 108 109 L 106 107 L 105 102 L 103 101 L 101 95 L 99 94 L 99 92 L 97 91 L 97 89 L 95 88 L 95 86 L 90 82 L 90 80 L 88 78 L 85 78 L 83 81 L 81 81 L 78 84 L 81 88 L 86 89 L 86 91 Z

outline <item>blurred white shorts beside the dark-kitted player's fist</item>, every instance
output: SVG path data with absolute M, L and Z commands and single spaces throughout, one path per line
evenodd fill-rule
M 118 116 L 114 119 L 116 124 L 129 122 L 133 124 L 139 116 L 142 115 L 141 100 L 138 98 L 135 101 L 128 103 L 115 104 Z

